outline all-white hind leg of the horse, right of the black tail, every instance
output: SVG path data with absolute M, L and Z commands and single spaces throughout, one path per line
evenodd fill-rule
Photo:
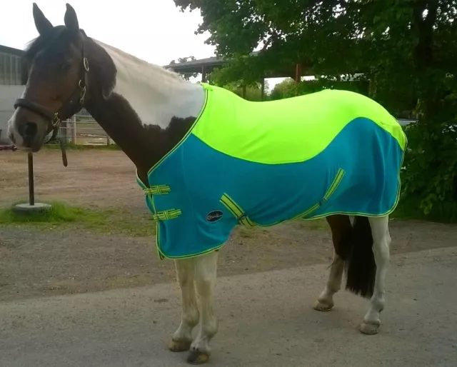
M 388 216 L 380 218 L 368 218 L 373 234 L 373 253 L 376 262 L 376 279 L 374 281 L 373 296 L 370 301 L 370 308 L 363 318 L 361 332 L 365 334 L 376 334 L 381 326 L 379 315 L 383 311 L 386 301 L 384 300 L 384 281 L 388 263 L 390 261 L 389 246 L 391 236 L 388 233 Z

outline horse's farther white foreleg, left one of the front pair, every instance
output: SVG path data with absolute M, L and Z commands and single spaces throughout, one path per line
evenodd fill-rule
M 192 329 L 199 323 L 194 279 L 195 258 L 175 260 L 176 279 L 181 288 L 182 316 L 181 324 L 169 343 L 170 351 L 189 351 L 192 343 Z

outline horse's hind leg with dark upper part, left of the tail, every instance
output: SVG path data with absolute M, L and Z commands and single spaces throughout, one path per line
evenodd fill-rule
M 344 270 L 344 260 L 351 246 L 352 225 L 348 216 L 336 215 L 328 216 L 327 222 L 331 228 L 333 241 L 333 261 L 330 266 L 330 273 L 326 287 L 314 309 L 317 311 L 330 311 L 333 306 L 333 295 L 341 288 L 341 278 Z

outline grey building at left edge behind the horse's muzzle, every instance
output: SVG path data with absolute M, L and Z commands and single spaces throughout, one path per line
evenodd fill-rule
M 6 134 L 8 120 L 14 112 L 14 100 L 21 96 L 22 50 L 0 45 L 0 144 L 10 144 Z

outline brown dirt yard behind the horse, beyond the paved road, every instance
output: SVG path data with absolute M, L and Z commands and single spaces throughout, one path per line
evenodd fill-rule
M 122 208 L 144 215 L 144 196 L 134 166 L 120 151 L 59 151 L 36 154 L 36 200 L 59 200 L 87 208 Z M 0 208 L 26 200 L 27 159 L 0 154 Z M 457 243 L 457 226 L 391 221 L 392 253 L 409 253 Z M 252 231 L 236 229 L 220 251 L 219 274 L 293 268 L 331 260 L 325 223 L 281 224 Z M 156 256 L 154 238 L 102 235 L 92 231 L 0 226 L 0 301 L 84 293 L 174 281 L 174 266 Z

